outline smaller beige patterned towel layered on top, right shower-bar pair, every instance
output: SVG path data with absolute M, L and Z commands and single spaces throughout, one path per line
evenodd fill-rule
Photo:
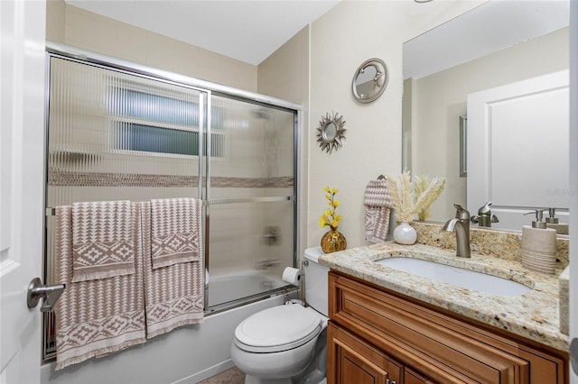
M 153 268 L 200 260 L 200 200 L 151 200 Z

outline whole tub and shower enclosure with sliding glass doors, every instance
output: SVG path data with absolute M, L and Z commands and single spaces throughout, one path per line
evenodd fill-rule
M 194 383 L 227 369 L 238 323 L 296 297 L 281 276 L 297 262 L 299 106 L 53 43 L 47 63 L 47 282 L 55 206 L 172 197 L 203 202 L 206 278 L 202 324 L 64 370 L 45 314 L 42 382 Z

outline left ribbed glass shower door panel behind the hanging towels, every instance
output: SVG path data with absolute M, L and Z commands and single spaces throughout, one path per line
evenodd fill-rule
M 48 91 L 45 279 L 54 284 L 56 206 L 200 198 L 209 93 L 60 56 L 50 56 Z M 44 322 L 49 358 L 53 313 Z

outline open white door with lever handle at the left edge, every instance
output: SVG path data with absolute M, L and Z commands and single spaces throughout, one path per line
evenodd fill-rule
M 26 293 L 42 277 L 43 1 L 0 1 L 0 382 L 38 383 L 41 315 Z

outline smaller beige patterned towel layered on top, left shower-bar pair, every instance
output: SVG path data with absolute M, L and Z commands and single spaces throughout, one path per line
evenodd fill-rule
M 135 243 L 128 201 L 72 205 L 72 281 L 135 273 Z

